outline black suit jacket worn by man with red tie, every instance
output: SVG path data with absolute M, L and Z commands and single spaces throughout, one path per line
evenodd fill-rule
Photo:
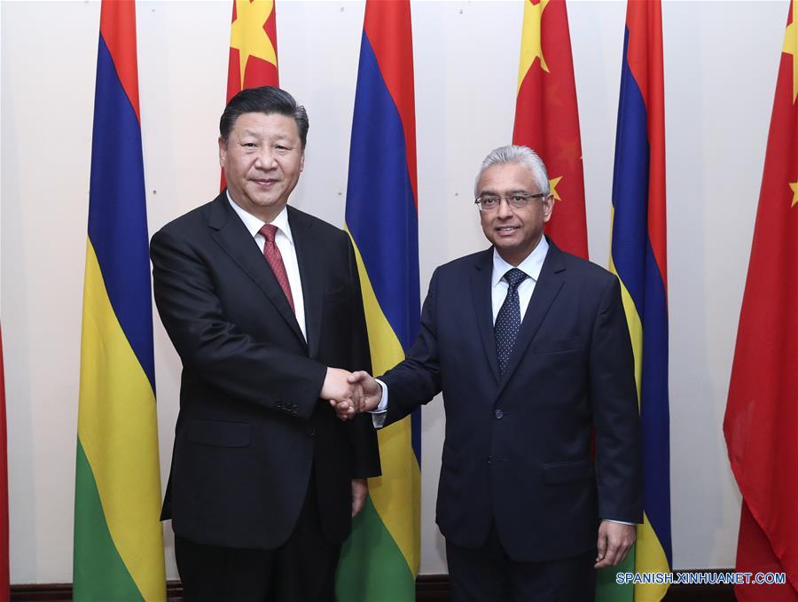
M 307 343 L 268 263 L 223 193 L 153 236 L 160 318 L 183 361 L 163 518 L 195 543 L 286 542 L 315 467 L 325 536 L 351 528 L 351 479 L 379 474 L 366 418 L 318 395 L 327 366 L 370 368 L 347 234 L 288 207 Z

